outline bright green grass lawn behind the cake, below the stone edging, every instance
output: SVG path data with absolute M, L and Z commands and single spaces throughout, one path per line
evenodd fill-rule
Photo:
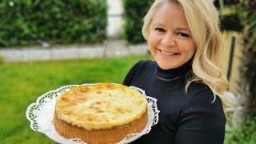
M 140 59 L 150 59 L 150 56 L 0 65 L 0 143 L 54 143 L 30 129 L 26 108 L 31 102 L 61 86 L 122 83 L 131 66 Z

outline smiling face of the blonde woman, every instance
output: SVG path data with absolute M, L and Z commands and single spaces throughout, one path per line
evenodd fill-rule
M 148 42 L 152 56 L 163 70 L 182 66 L 196 50 L 185 14 L 174 2 L 166 2 L 155 11 Z

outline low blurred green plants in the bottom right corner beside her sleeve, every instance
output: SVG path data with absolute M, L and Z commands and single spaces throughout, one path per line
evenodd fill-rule
M 231 129 L 226 132 L 226 144 L 256 143 L 256 112 L 247 114 L 239 130 Z

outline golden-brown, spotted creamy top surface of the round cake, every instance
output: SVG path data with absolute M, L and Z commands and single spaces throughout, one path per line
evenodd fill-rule
M 147 110 L 143 94 L 128 86 L 99 83 L 78 86 L 62 94 L 55 114 L 73 126 L 86 130 L 107 129 L 133 122 Z

